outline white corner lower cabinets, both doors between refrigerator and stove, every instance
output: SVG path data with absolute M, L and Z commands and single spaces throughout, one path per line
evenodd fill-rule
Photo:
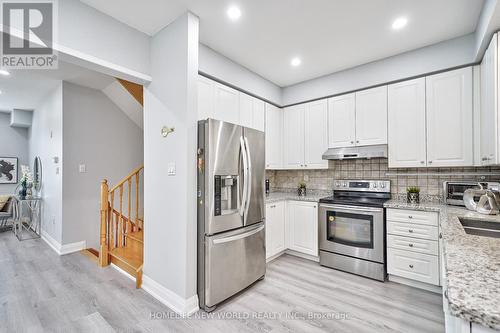
M 266 204 L 266 259 L 285 250 L 318 257 L 318 204 L 279 201 Z

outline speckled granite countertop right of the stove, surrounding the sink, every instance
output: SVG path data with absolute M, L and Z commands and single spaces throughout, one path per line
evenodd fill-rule
M 459 217 L 500 223 L 500 215 L 465 208 L 390 200 L 387 208 L 439 212 L 445 267 L 445 296 L 451 315 L 500 330 L 500 238 L 466 234 Z

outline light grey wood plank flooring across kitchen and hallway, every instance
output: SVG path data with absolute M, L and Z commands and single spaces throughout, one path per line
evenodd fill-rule
M 170 311 L 113 268 L 0 233 L 0 332 L 444 332 L 437 294 L 288 255 L 214 313 L 238 319 L 151 319 L 152 312 Z M 337 312 L 347 318 L 279 318 Z

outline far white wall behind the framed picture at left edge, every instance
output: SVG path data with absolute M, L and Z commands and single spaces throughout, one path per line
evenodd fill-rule
M 18 180 L 21 165 L 30 165 L 28 129 L 10 126 L 10 114 L 0 112 L 0 158 L 18 158 Z M 1 194 L 14 194 L 17 184 L 0 184 Z

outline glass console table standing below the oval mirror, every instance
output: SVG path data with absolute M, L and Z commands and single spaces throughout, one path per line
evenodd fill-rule
M 12 230 L 20 241 L 40 238 L 42 229 L 42 198 L 15 196 Z

